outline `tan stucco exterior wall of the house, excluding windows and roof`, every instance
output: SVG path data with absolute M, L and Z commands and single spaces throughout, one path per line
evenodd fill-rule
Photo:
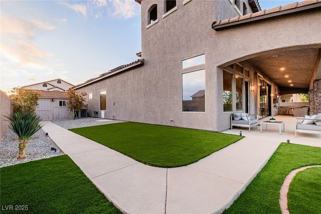
M 158 23 L 146 29 L 147 11 L 155 3 Z M 226 130 L 230 128 L 232 112 L 223 112 L 223 67 L 277 49 L 321 47 L 320 13 L 300 13 L 216 32 L 212 29 L 216 6 L 213 1 L 200 4 L 193 0 L 185 6 L 178 1 L 178 10 L 163 19 L 164 1 L 142 1 L 144 65 L 78 89 L 93 94 L 93 99 L 88 100 L 88 115 L 99 111 L 99 92 L 106 90 L 105 118 Z M 205 65 L 181 69 L 182 60 L 204 53 Z M 272 92 L 277 89 L 257 68 L 242 64 L 250 70 L 251 82 L 257 83 L 257 75 L 261 75 Z M 206 71 L 206 111 L 182 112 L 182 74 L 200 69 Z M 258 113 L 257 99 L 255 90 L 250 93 L 252 114 Z M 277 109 L 271 106 L 274 116 Z

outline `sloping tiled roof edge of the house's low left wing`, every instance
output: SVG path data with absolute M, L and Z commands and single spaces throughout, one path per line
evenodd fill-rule
M 79 85 L 74 86 L 73 89 L 81 88 L 81 87 L 83 87 L 85 85 L 89 85 L 89 84 L 91 84 L 93 82 L 99 81 L 101 79 L 107 78 L 109 76 L 118 74 L 118 73 L 123 72 L 123 71 L 127 71 L 130 68 L 133 68 L 133 67 L 136 67 L 136 66 L 139 66 L 139 65 L 143 65 L 143 64 L 144 64 L 144 59 L 138 59 L 138 60 L 136 60 L 134 62 L 131 62 L 129 64 L 118 66 L 118 67 L 116 67 L 114 69 L 109 70 L 106 73 L 103 73 L 103 74 L 99 75 L 96 78 L 92 78 L 90 80 L 85 81 L 84 83 L 81 83 Z

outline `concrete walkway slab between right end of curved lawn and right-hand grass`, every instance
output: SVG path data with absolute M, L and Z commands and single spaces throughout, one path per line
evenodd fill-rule
M 261 139 L 240 140 L 190 164 L 189 167 L 215 174 L 243 184 L 249 183 L 277 149 L 278 142 L 266 143 Z

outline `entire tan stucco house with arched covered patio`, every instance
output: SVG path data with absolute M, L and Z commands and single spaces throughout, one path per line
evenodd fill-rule
M 136 2 L 139 59 L 73 87 L 88 116 L 223 131 L 234 112 L 274 116 L 276 98 L 295 93 L 321 113 L 320 0 Z

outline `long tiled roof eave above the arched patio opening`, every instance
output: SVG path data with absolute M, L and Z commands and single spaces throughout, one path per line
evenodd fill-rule
M 319 7 L 321 7 L 321 2 L 315 3 L 315 4 L 311 4 L 311 5 L 302 6 L 302 7 L 299 7 L 299 8 L 289 9 L 289 10 L 286 10 L 286 11 L 279 11 L 279 12 L 275 12 L 275 13 L 271 13 L 271 14 L 266 14 L 266 15 L 262 15 L 262 16 L 248 18 L 248 19 L 244 19 L 244 20 L 240 20 L 240 21 L 236 21 L 236 22 L 232 22 L 232 23 L 226 23 L 226 24 L 223 24 L 223 25 L 215 26 L 216 22 L 214 22 L 212 24 L 212 28 L 215 31 L 221 31 L 221 30 L 224 30 L 226 28 L 230 28 L 230 27 L 237 26 L 237 25 L 240 25 L 240 24 L 256 22 L 256 21 L 265 20 L 265 19 L 268 19 L 268 18 L 283 16 L 283 15 L 292 14 L 292 13 L 296 13 L 296 12 L 300 12 L 300 11 L 311 10 L 311 9 L 315 9 L 315 8 L 319 8 Z

